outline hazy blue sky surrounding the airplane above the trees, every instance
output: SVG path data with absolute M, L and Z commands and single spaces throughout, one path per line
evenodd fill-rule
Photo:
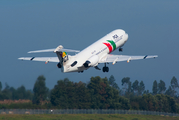
M 92 76 L 114 75 L 121 79 L 143 80 L 151 91 L 154 80 L 168 87 L 173 76 L 179 79 L 179 1 L 0 1 L 0 81 L 15 88 L 33 89 L 39 75 L 52 89 L 58 80 L 88 82 Z M 61 73 L 56 63 L 20 61 L 19 57 L 55 56 L 54 53 L 28 54 L 28 51 L 55 48 L 82 50 L 107 33 L 123 29 L 129 39 L 124 55 L 158 55 L 157 59 L 109 64 L 109 72 L 90 68 L 84 73 Z M 102 68 L 104 65 L 100 64 Z

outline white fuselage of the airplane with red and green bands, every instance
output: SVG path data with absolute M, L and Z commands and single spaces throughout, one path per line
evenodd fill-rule
M 95 67 L 98 61 L 115 49 L 122 47 L 127 40 L 128 34 L 124 30 L 114 30 L 78 54 L 69 56 L 69 60 L 63 63 L 62 72 L 81 72 L 89 67 Z M 73 66 L 75 61 L 76 64 Z M 89 67 L 84 66 L 86 61 L 90 62 Z

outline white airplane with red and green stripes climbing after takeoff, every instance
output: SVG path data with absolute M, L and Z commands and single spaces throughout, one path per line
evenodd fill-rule
M 113 65 L 117 62 L 132 60 L 156 58 L 157 55 L 144 55 L 144 56 L 129 56 L 129 55 L 113 55 L 111 52 L 119 48 L 119 51 L 123 51 L 123 45 L 128 40 L 128 34 L 122 29 L 116 29 L 106 36 L 102 37 L 95 43 L 91 44 L 82 51 L 64 49 L 62 45 L 59 45 L 54 49 L 29 51 L 28 53 L 41 53 L 41 52 L 54 52 L 57 57 L 21 57 L 20 60 L 30 61 L 44 61 L 56 62 L 57 67 L 61 68 L 61 72 L 79 72 L 82 73 L 90 67 L 94 67 L 97 70 L 101 70 L 98 64 L 104 63 L 102 69 L 103 72 L 108 72 L 109 67 L 107 63 Z M 74 52 L 75 55 L 68 55 L 67 52 Z

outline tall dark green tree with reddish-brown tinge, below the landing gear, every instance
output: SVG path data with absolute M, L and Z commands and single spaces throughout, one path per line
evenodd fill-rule
M 111 87 L 107 78 L 91 77 L 87 85 L 91 95 L 91 108 L 93 109 L 118 109 L 119 91 Z

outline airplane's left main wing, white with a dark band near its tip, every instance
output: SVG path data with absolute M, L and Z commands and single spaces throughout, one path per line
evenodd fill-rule
M 59 62 L 57 57 L 21 57 L 18 58 L 20 60 L 31 60 L 31 61 L 44 61 L 45 63 L 48 62 Z

